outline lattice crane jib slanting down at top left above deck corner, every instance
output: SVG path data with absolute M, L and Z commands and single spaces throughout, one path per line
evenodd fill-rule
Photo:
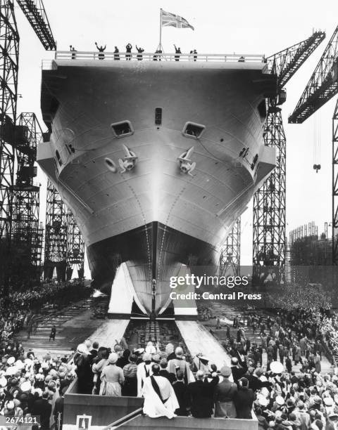
M 46 51 L 56 50 L 51 26 L 42 0 L 16 0 Z

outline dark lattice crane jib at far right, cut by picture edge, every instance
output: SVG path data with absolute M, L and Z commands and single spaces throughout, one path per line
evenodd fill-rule
M 289 116 L 289 123 L 301 124 L 338 93 L 338 26 L 315 67 L 306 88 Z

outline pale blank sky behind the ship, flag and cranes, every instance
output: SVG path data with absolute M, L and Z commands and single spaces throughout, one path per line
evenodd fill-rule
M 194 26 L 190 29 L 164 27 L 162 44 L 173 52 L 173 44 L 182 53 L 196 48 L 199 53 L 243 53 L 270 56 L 307 39 L 313 30 L 326 32 L 326 39 L 287 84 L 287 102 L 282 105 L 287 136 L 287 235 L 303 223 L 315 221 L 318 231 L 331 221 L 332 211 L 332 115 L 337 96 L 304 124 L 287 124 L 308 79 L 338 24 L 337 0 L 168 0 L 127 3 L 113 0 L 44 0 L 59 51 L 96 51 L 95 41 L 106 44 L 106 52 L 117 45 L 120 51 L 130 42 L 154 52 L 159 41 L 160 8 L 181 15 Z M 18 76 L 18 113 L 35 112 L 42 126 L 39 107 L 41 65 L 54 58 L 44 51 L 18 6 L 15 15 L 20 34 Z M 314 154 L 316 156 L 314 157 Z M 321 164 L 318 173 L 313 164 Z M 41 219 L 45 220 L 46 178 L 42 183 Z M 329 233 L 330 234 L 330 233 Z M 242 215 L 242 264 L 252 261 L 252 202 Z M 86 273 L 89 275 L 86 264 Z

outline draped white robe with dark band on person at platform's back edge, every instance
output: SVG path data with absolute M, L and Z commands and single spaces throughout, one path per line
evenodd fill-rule
M 173 387 L 171 386 L 168 379 L 165 377 L 155 376 L 154 379 L 158 384 L 161 396 L 163 400 L 165 400 L 165 402 L 162 403 L 161 398 L 159 398 L 158 394 L 153 388 L 153 385 L 151 384 L 151 378 L 147 377 L 144 381 L 144 386 L 142 390 L 144 396 L 144 414 L 148 415 L 151 418 L 175 417 L 175 410 L 180 408 L 180 405 L 177 402 Z

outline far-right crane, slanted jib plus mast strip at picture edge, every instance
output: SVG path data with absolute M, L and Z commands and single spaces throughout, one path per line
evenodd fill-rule
M 338 93 L 338 26 L 301 94 L 290 124 L 301 124 Z M 332 117 L 332 264 L 338 265 L 338 100 Z

